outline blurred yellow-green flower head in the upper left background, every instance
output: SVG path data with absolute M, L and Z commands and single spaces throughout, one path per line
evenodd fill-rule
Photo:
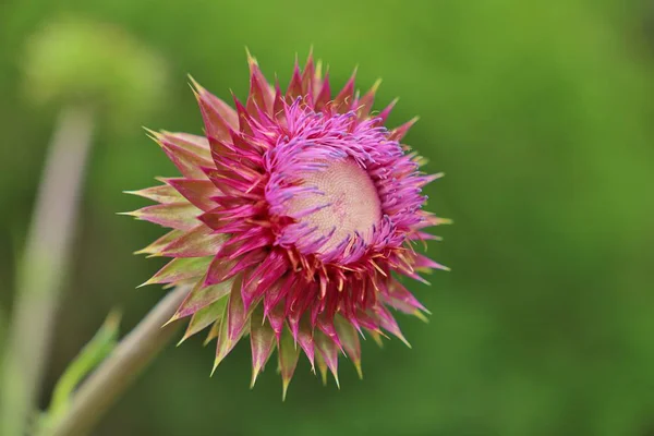
M 114 122 L 161 104 L 165 63 L 123 29 L 78 17 L 46 22 L 24 53 L 26 95 L 37 104 L 105 107 Z

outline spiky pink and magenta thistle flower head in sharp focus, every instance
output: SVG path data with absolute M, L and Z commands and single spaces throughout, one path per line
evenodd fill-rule
M 361 375 L 360 336 L 407 342 L 389 307 L 427 311 L 398 277 L 446 269 L 414 250 L 446 220 L 422 209 L 440 174 L 400 143 L 415 119 L 371 112 L 378 83 L 361 96 L 352 75 L 332 97 L 310 55 L 283 93 L 247 58 L 235 109 L 192 80 L 204 136 L 150 132 L 182 177 L 132 192 L 159 204 L 130 215 L 172 229 L 138 253 L 172 258 L 144 284 L 194 286 L 171 319 L 191 317 L 182 341 L 210 327 L 216 370 L 250 335 L 252 385 L 277 348 L 286 396 L 301 351 L 338 384 L 340 353 Z

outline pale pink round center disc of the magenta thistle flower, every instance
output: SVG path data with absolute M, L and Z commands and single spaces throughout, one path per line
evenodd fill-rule
M 301 174 L 302 185 L 314 186 L 319 193 L 300 195 L 289 202 L 291 214 L 327 205 L 300 218 L 300 223 L 316 228 L 316 239 L 332 232 L 318 249 L 319 254 L 336 249 L 359 233 L 370 242 L 373 227 L 382 219 L 382 206 L 375 184 L 367 172 L 352 158 L 328 162 L 318 171 Z

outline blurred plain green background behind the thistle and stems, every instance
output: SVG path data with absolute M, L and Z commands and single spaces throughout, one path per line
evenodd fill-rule
M 131 255 L 162 230 L 114 215 L 144 205 L 121 191 L 175 173 L 141 126 L 198 133 L 186 73 L 244 97 L 244 46 L 286 84 L 314 45 L 337 86 L 355 64 L 361 88 L 382 76 L 380 105 L 401 97 L 390 123 L 420 114 L 407 142 L 447 173 L 428 208 L 456 225 L 429 253 L 452 271 L 412 284 L 429 324 L 400 319 L 411 350 L 365 342 L 364 379 L 343 361 L 340 391 L 301 361 L 284 403 L 274 365 L 247 388 L 247 344 L 209 378 L 214 350 L 193 338 L 94 435 L 654 435 L 651 1 L 5 0 L 0 338 L 57 114 L 26 97 L 26 41 L 68 14 L 137 38 L 169 85 L 156 111 L 96 131 L 43 404 L 111 307 L 128 331 L 164 294 L 134 289 L 161 263 Z

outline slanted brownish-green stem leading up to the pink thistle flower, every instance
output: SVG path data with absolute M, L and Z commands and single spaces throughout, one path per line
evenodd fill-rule
M 161 326 L 172 317 L 190 290 L 190 287 L 179 286 L 166 295 L 82 384 L 73 396 L 70 408 L 45 435 L 87 434 L 138 373 L 171 340 L 180 323 Z

